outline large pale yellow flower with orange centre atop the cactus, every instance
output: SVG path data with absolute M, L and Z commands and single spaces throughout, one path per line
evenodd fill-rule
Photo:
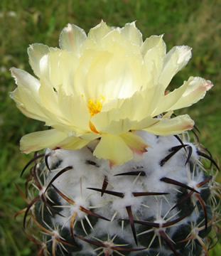
M 22 137 L 26 153 L 80 149 L 97 139 L 94 155 L 122 164 L 149 146 L 136 130 L 167 135 L 192 129 L 187 114 L 171 114 L 198 102 L 212 87 L 208 80 L 190 77 L 166 92 L 190 60 L 191 48 L 175 46 L 166 53 L 163 36 L 143 42 L 134 22 L 111 28 L 102 21 L 88 35 L 68 24 L 60 48 L 35 43 L 28 55 L 37 78 L 11 68 L 18 85 L 11 97 L 23 114 L 53 129 Z

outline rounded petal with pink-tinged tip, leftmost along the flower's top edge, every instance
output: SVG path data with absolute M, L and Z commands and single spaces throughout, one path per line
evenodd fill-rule
M 82 28 L 76 25 L 68 24 L 60 33 L 59 46 L 63 50 L 80 53 L 80 47 L 86 40 L 87 35 Z

